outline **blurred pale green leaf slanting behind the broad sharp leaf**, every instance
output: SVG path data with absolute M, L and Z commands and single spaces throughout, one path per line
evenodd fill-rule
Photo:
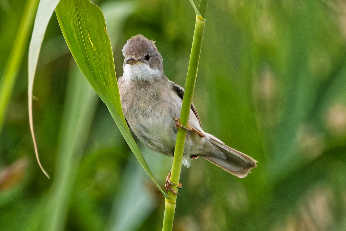
M 121 10 L 121 14 L 108 14 L 108 18 L 105 15 L 111 28 L 121 27 L 133 12 L 131 2 L 108 3 L 104 7 L 110 12 Z M 115 34 L 113 38 L 118 38 L 117 35 Z M 56 170 L 44 219 L 40 222 L 43 223 L 43 230 L 63 230 L 65 227 L 71 194 L 75 189 L 71 186 L 75 185 L 77 169 L 80 166 L 98 102 L 99 97 L 78 66 L 74 65 L 67 84 Z

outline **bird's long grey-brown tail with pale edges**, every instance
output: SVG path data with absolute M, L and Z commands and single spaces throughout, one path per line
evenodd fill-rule
M 215 152 L 207 156 L 201 155 L 206 160 L 214 163 L 225 171 L 239 178 L 246 177 L 251 169 L 257 166 L 257 161 L 253 158 L 227 146 L 215 136 L 208 134 L 211 144 L 215 146 Z

